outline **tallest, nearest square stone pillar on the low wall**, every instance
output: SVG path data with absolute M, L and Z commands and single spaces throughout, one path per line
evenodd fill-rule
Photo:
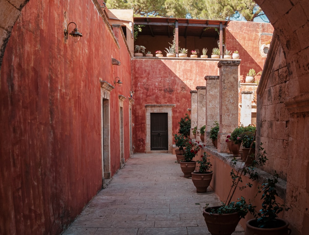
M 219 68 L 219 133 L 218 152 L 227 153 L 226 135 L 238 126 L 238 66 L 237 60 L 220 60 Z

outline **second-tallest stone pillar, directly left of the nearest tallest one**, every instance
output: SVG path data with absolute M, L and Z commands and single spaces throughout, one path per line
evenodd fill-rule
M 205 92 L 205 141 L 206 146 L 213 146 L 209 138 L 210 128 L 214 122 L 219 122 L 219 76 L 205 76 L 206 92 Z

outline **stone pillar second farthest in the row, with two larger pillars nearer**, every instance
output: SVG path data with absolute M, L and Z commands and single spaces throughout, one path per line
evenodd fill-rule
M 197 86 L 197 131 L 196 131 L 196 139 L 197 141 L 201 141 L 201 133 L 200 128 L 206 124 L 206 100 L 205 100 L 205 93 L 206 87 L 205 86 Z

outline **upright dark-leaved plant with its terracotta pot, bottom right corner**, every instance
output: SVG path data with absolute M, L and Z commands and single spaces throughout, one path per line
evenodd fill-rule
M 246 223 L 245 235 L 281 235 L 290 234 L 289 223 L 283 219 L 278 219 L 278 214 L 283 210 L 288 211 L 290 208 L 285 204 L 278 204 L 276 201 L 279 175 L 275 175 L 259 187 L 258 193 L 262 192 L 262 208 L 259 212 L 254 212 L 255 219 L 248 220 Z M 262 188 L 262 189 L 261 189 Z M 290 233 L 288 233 L 290 232 Z

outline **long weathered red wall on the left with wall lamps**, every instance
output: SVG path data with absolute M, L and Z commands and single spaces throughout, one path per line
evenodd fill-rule
M 76 44 L 64 42 L 71 21 L 83 33 Z M 120 48 L 92 1 L 32 0 L 22 10 L 1 68 L 1 234 L 59 234 L 101 188 L 99 80 L 113 85 L 115 76 L 123 85 L 110 97 L 112 174 L 119 168 L 118 95 L 129 95 L 131 65 L 118 38 Z

